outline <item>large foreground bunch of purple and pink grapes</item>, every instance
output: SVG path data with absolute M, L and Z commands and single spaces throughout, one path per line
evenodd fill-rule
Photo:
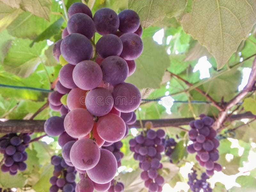
M 64 59 L 68 64 L 60 69 L 58 94 L 53 92 L 49 97 L 50 103 L 58 106 L 63 94 L 68 93 L 68 114 L 50 117 L 44 130 L 50 136 L 60 135 L 66 164 L 75 166 L 81 174 L 86 172 L 77 184 L 80 191 L 79 186 L 90 181 L 110 184 L 115 177 L 116 157 L 100 147 L 105 141 L 121 140 L 128 133 L 126 124 L 136 120 L 133 111 L 140 105 L 140 91 L 124 80 L 134 72 L 134 59 L 142 53 L 143 43 L 140 18 L 132 10 L 117 15 L 102 8 L 92 17 L 85 4 L 74 3 L 68 17 L 62 39 L 53 47 L 55 59 Z M 95 31 L 102 35 L 96 44 L 92 40 Z M 126 121 L 121 113 L 127 116 Z

